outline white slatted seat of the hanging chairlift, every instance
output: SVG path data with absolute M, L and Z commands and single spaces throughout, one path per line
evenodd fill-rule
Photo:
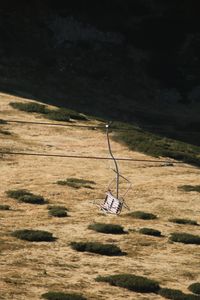
M 119 214 L 122 210 L 123 201 L 115 198 L 110 191 L 106 193 L 104 203 L 100 205 L 101 210 L 105 213 Z

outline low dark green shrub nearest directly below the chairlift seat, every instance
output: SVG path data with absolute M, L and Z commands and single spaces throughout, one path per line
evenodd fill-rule
M 108 233 L 108 234 L 124 234 L 124 228 L 121 225 L 116 224 L 104 224 L 94 223 L 88 226 L 88 229 L 92 229 L 97 232 Z

